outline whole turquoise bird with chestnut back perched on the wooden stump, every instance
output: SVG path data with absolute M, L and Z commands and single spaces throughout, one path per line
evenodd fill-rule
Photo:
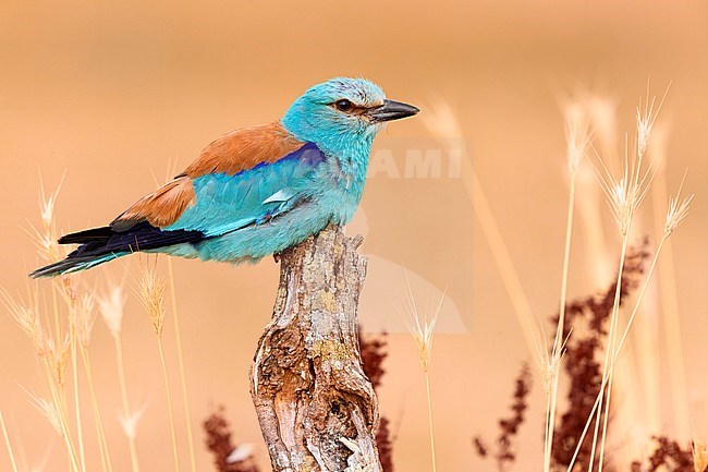
M 364 191 L 371 143 L 386 122 L 418 109 L 363 78 L 332 78 L 297 98 L 279 121 L 232 131 L 185 170 L 30 277 L 76 273 L 138 251 L 254 263 L 344 225 Z

